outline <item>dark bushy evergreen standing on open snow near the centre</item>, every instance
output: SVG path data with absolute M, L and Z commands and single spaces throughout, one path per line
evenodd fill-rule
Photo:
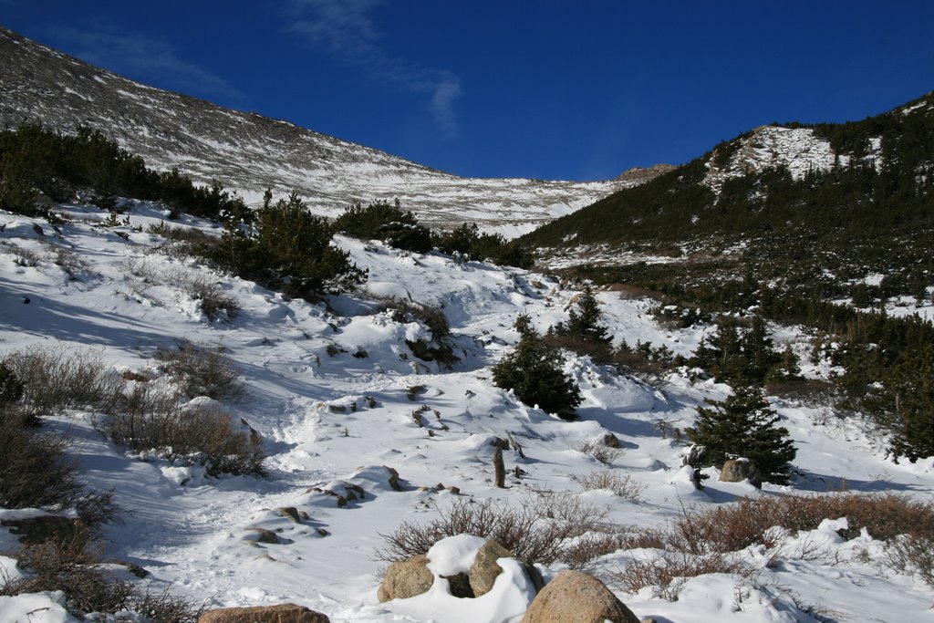
M 577 405 L 581 404 L 580 389 L 561 370 L 559 349 L 545 343 L 531 327 L 528 315 L 520 315 L 515 327 L 519 343 L 493 366 L 493 383 L 502 389 L 512 389 L 525 404 L 537 404 L 561 419 L 575 418 Z

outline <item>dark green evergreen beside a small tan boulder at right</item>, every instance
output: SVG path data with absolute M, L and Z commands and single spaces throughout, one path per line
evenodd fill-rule
M 724 401 L 704 402 L 713 408 L 699 406 L 694 426 L 686 429 L 691 442 L 701 446 L 702 465 L 745 458 L 756 463 L 764 480 L 787 484 L 797 450 L 787 429 L 775 425 L 778 415 L 759 389 L 741 387 Z

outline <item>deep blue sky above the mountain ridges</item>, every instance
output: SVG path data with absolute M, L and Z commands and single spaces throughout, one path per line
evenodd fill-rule
M 934 89 L 927 0 L 0 0 L 0 24 L 473 177 L 615 177 Z

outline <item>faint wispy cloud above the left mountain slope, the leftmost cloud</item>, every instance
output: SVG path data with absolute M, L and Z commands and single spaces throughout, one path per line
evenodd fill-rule
M 47 32 L 67 43 L 74 56 L 110 71 L 203 97 L 221 96 L 238 102 L 248 99 L 224 78 L 182 60 L 177 50 L 162 39 L 101 23 L 81 28 L 55 25 Z

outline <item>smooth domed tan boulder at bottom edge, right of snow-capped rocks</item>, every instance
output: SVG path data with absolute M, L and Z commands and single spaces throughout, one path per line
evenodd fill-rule
M 626 604 L 592 575 L 562 571 L 545 585 L 522 623 L 639 623 Z

